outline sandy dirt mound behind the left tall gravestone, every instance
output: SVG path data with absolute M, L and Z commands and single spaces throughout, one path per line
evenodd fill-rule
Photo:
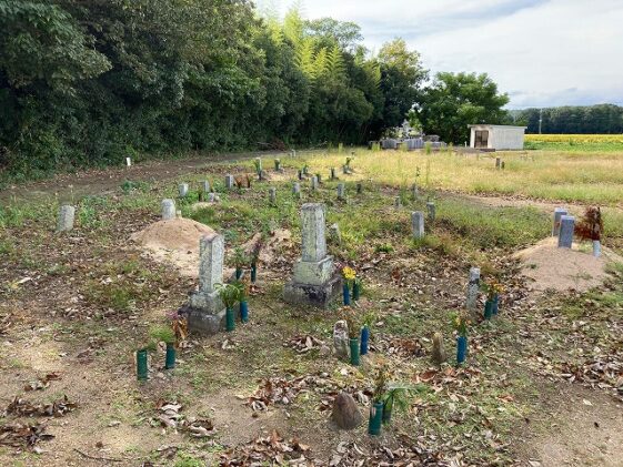
M 215 232 L 190 219 L 160 221 L 137 232 L 130 238 L 141 245 L 157 262 L 178 268 L 181 275 L 199 274 L 199 241 Z

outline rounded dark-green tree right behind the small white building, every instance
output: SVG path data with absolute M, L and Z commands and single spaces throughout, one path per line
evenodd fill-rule
M 449 143 L 463 143 L 469 124 L 503 123 L 509 103 L 506 94 L 486 74 L 438 73 L 424 89 L 415 108 L 424 132 L 439 134 Z

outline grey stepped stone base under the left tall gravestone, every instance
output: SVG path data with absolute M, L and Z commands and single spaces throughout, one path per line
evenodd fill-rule
M 211 336 L 225 328 L 225 308 L 217 292 L 192 293 L 189 305 L 182 307 L 180 314 L 185 315 L 191 333 Z

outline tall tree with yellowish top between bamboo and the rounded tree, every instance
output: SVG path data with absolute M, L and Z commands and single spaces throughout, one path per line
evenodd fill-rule
M 381 68 L 381 90 L 385 102 L 382 121 L 376 122 L 376 131 L 382 128 L 399 126 L 420 95 L 420 85 L 428 71 L 422 67 L 420 54 L 410 51 L 403 39 L 385 43 L 379 52 Z

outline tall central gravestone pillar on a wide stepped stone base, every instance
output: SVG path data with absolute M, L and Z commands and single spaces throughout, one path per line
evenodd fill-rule
M 324 205 L 303 204 L 301 224 L 301 260 L 294 264 L 294 277 L 285 284 L 283 297 L 293 304 L 325 307 L 341 291 L 342 280 L 326 254 Z

